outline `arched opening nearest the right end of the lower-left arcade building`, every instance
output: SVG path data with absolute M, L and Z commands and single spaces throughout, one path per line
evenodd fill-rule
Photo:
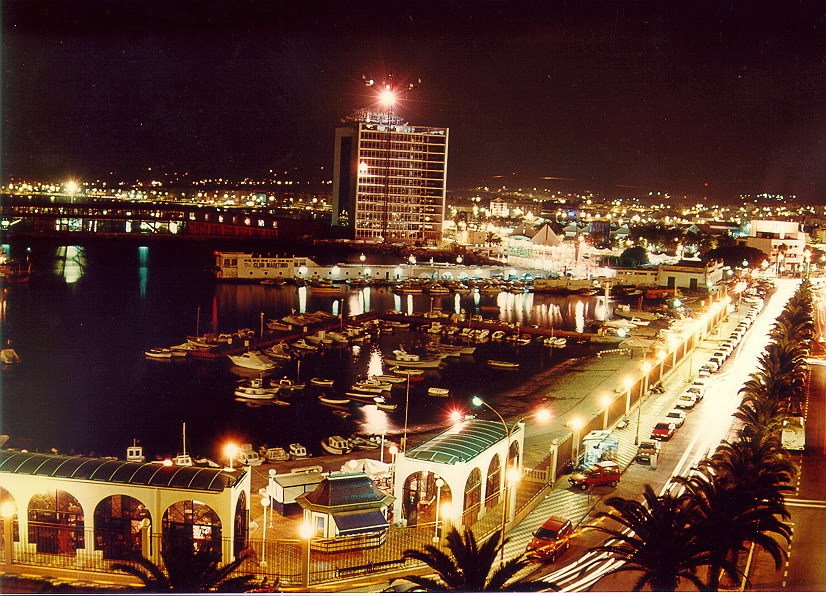
M 178 501 L 164 511 L 161 548 L 211 550 L 221 556 L 221 519 L 200 501 Z

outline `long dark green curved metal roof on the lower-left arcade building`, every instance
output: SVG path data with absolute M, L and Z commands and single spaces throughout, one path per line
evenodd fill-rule
M 209 492 L 221 492 L 235 486 L 244 475 L 244 472 L 228 472 L 221 468 L 164 466 L 160 462 L 136 463 L 6 450 L 0 451 L 0 472 Z

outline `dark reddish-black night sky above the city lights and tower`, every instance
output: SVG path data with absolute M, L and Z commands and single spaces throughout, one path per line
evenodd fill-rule
M 826 201 L 824 2 L 2 5 L 4 179 L 330 178 L 391 74 L 450 127 L 449 189 Z

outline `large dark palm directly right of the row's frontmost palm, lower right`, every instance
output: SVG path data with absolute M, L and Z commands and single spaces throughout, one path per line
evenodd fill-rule
M 674 480 L 686 488 L 689 502 L 696 508 L 700 541 L 712 553 L 708 590 L 719 590 L 721 572 L 732 581 L 742 576 L 737 561 L 748 544 L 765 550 L 780 569 L 786 551 L 775 535 L 787 543 L 791 536 L 791 528 L 781 521 L 789 517 L 782 502 L 762 499 L 748 486 L 720 479 L 710 466 L 701 471 L 704 473 Z

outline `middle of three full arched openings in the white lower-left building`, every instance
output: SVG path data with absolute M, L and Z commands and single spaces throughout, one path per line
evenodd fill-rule
M 127 495 L 106 497 L 95 507 L 95 550 L 104 559 L 128 560 L 140 555 L 144 520 L 151 522 L 149 510 Z

